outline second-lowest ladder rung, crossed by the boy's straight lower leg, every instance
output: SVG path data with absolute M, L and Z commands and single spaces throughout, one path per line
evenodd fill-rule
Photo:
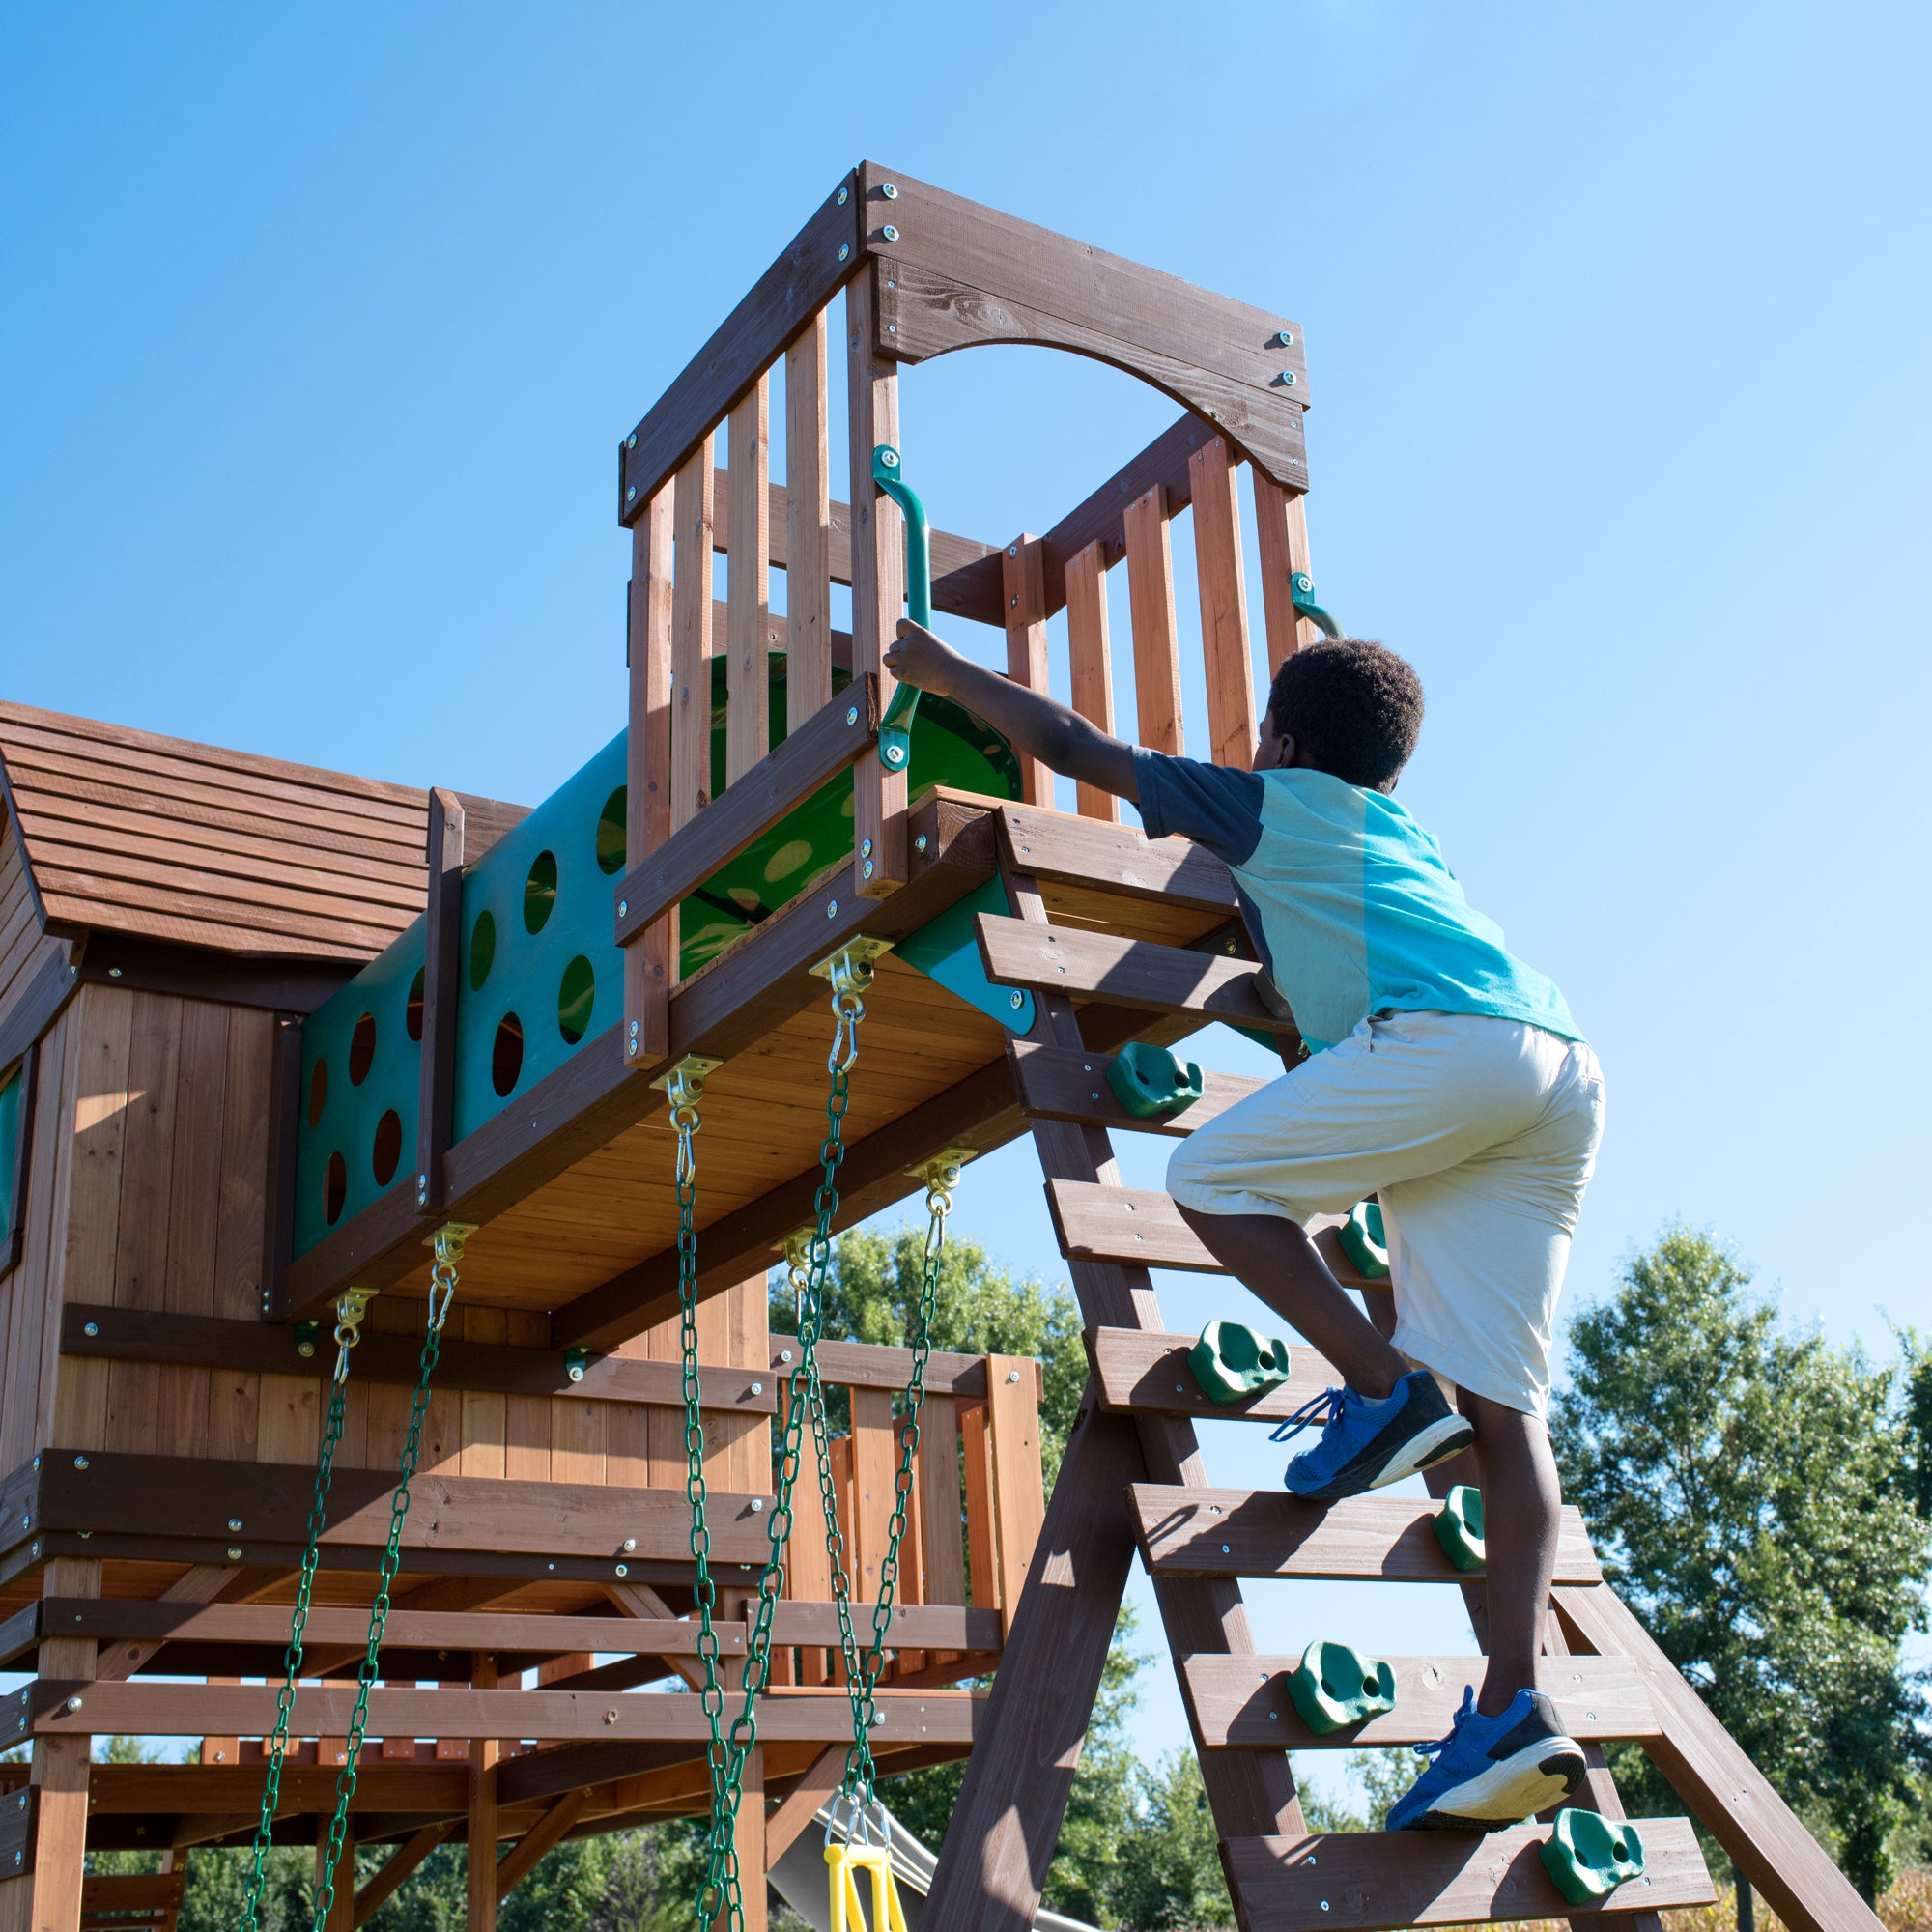
M 1298 1656 L 1177 1658 L 1194 1739 L 1208 1750 L 1352 1750 L 1447 1737 L 1463 1687 L 1480 1683 L 1482 1658 L 1389 1658 L 1395 1710 L 1325 1735 L 1310 1731 L 1289 1696 Z M 1658 1735 L 1642 1671 L 1629 1658 L 1542 1658 L 1536 1685 L 1578 1741 Z

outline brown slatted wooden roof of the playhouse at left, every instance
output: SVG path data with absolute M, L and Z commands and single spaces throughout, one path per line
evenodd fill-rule
M 427 895 L 429 794 L 0 701 L 44 920 L 267 958 L 373 958 Z

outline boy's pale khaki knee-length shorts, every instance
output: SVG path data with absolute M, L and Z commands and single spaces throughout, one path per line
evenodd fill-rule
M 1395 1347 L 1532 1416 L 1604 1074 L 1577 1039 L 1519 1020 L 1397 1012 L 1206 1122 L 1167 1167 L 1196 1213 L 1306 1221 L 1379 1194 Z

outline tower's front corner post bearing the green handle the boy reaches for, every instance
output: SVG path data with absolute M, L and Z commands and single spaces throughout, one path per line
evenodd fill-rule
M 852 452 L 852 672 L 879 680 L 879 711 L 893 701 L 885 647 L 906 611 L 906 526 L 871 481 L 871 452 L 898 446 L 898 367 L 873 354 L 877 267 L 846 282 L 846 367 Z M 869 850 L 867 850 L 869 846 Z M 867 755 L 854 765 L 852 848 L 862 898 L 906 883 L 906 775 Z M 866 875 L 866 866 L 871 875 Z

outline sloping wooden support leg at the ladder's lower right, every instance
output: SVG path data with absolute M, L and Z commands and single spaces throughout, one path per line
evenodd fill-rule
M 1683 1673 L 1611 1590 L 1557 1588 L 1571 1642 L 1629 1658 L 1656 1704 L 1644 1752 L 1791 1932 L 1874 1932 L 1876 1917 Z M 1642 1820 L 1644 1847 L 1652 1822 Z

